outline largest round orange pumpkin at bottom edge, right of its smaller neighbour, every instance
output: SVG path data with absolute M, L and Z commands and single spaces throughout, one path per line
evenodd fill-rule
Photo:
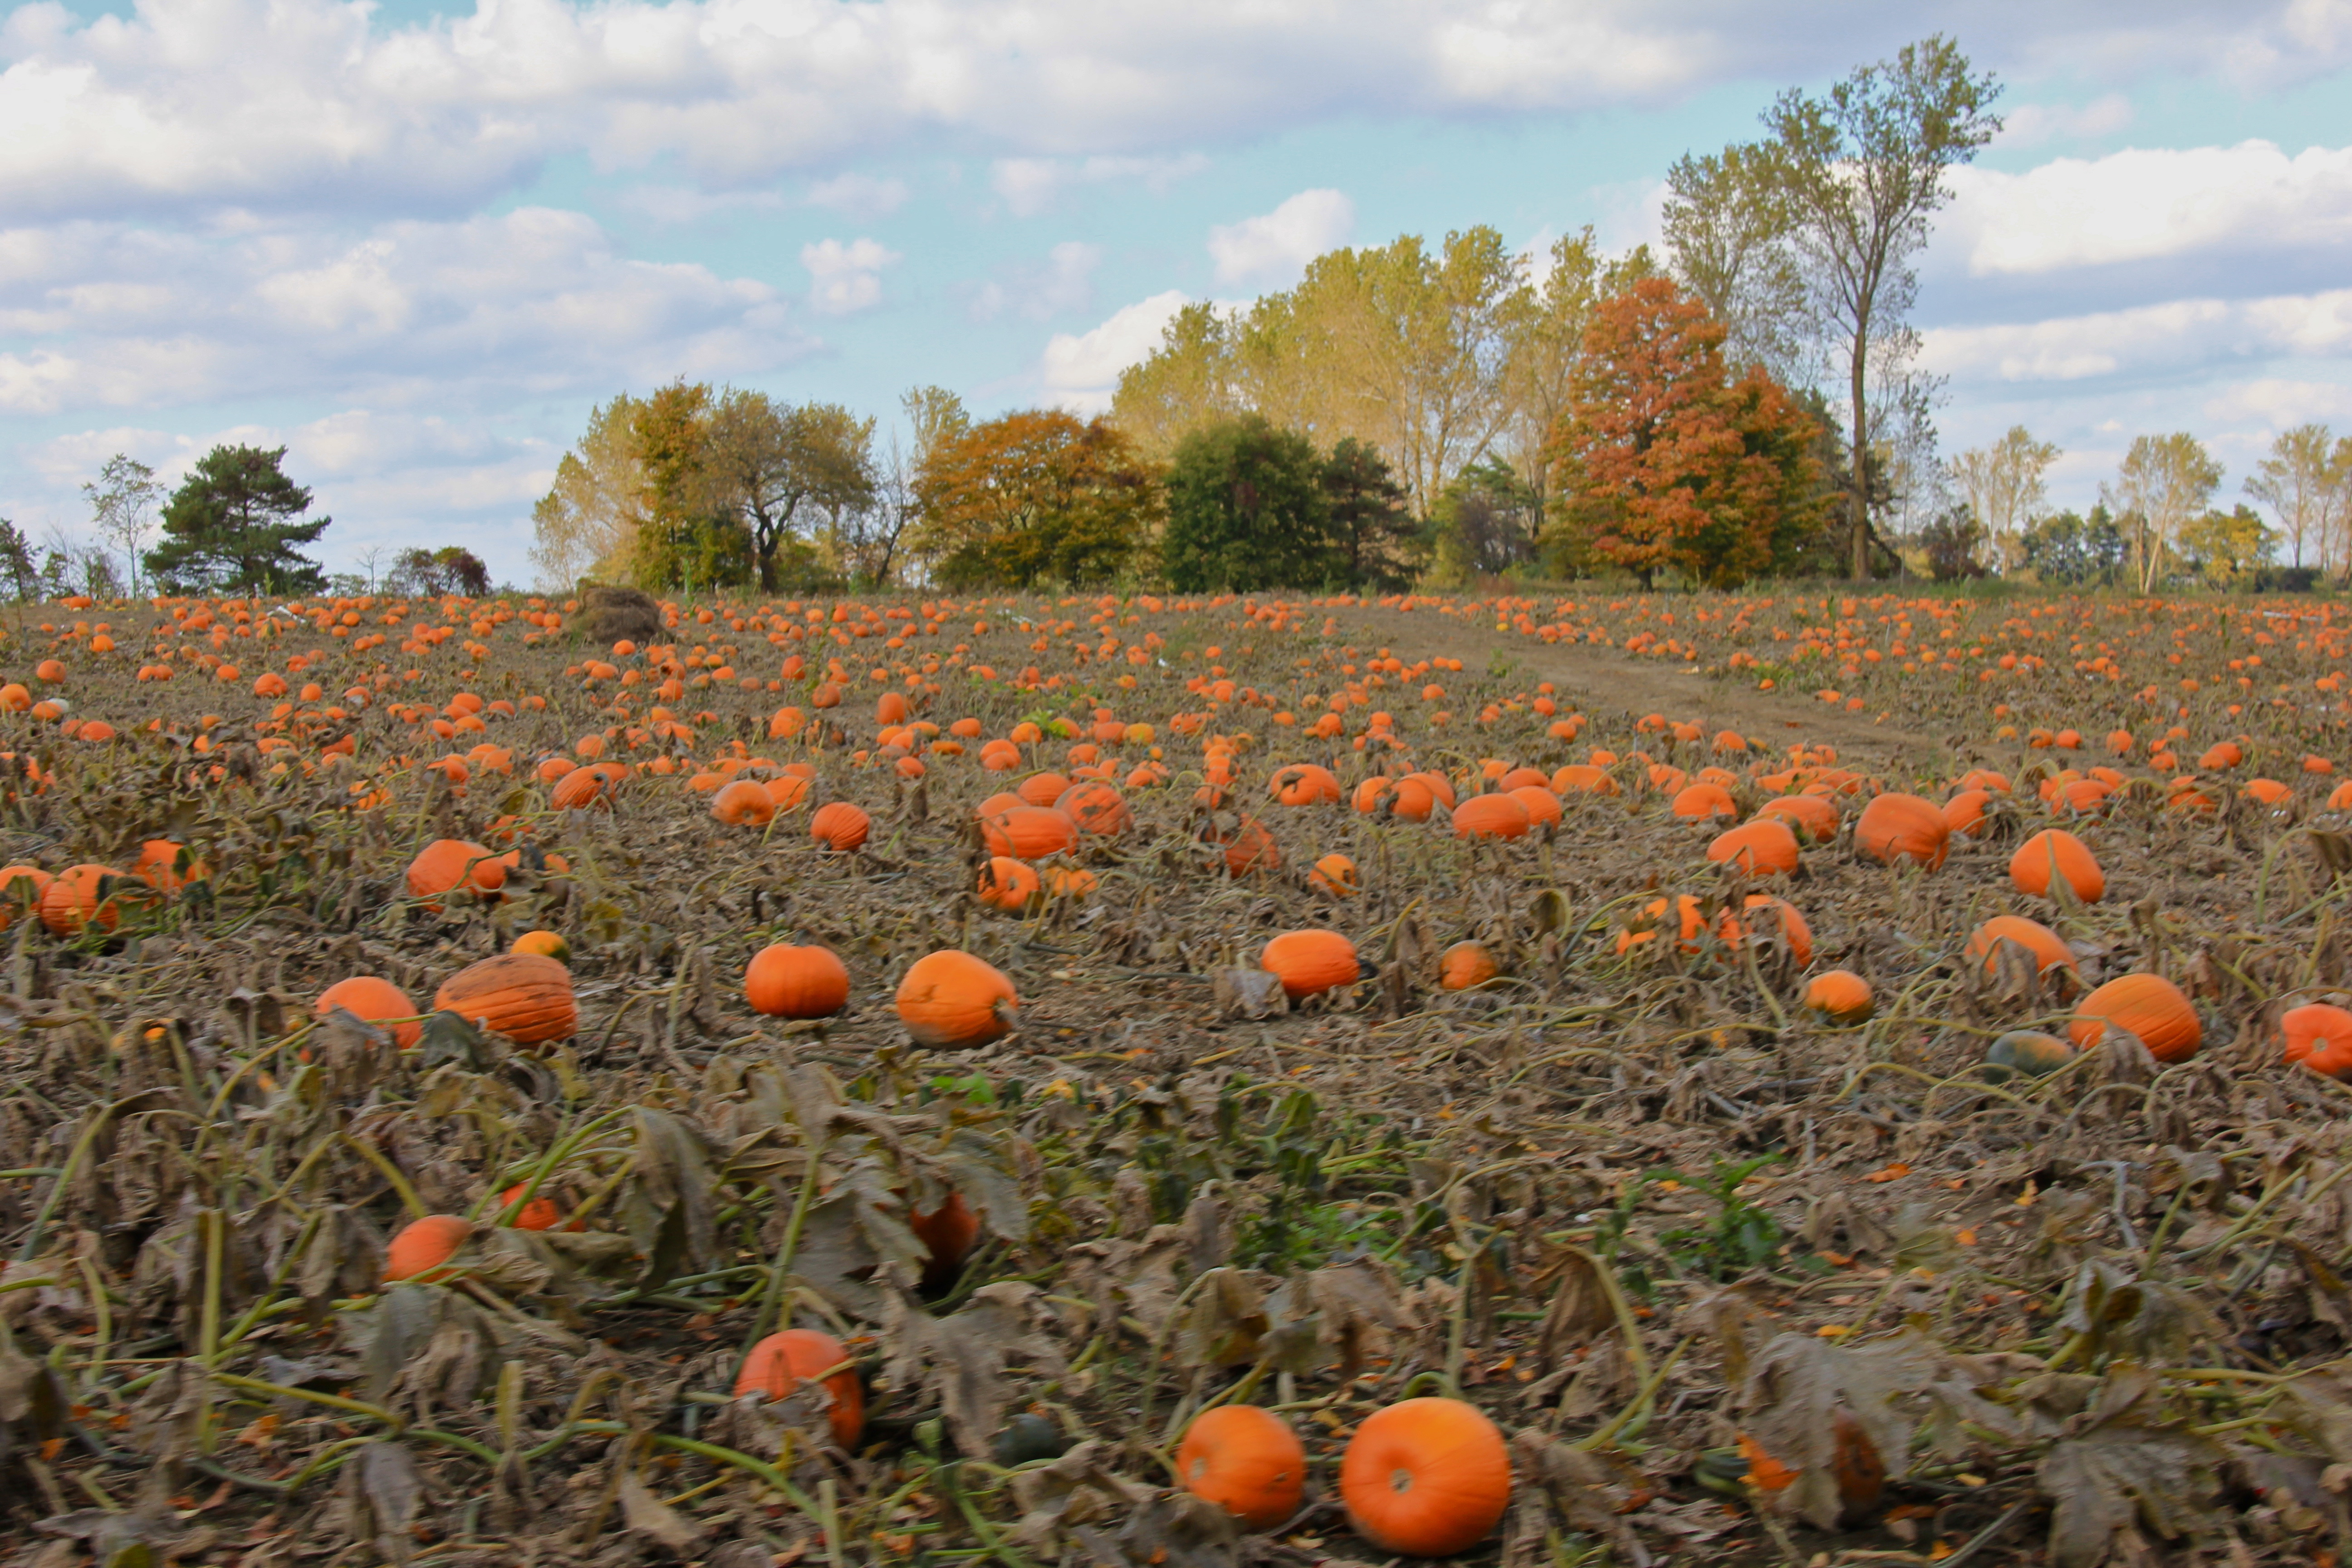
M 1468 1552 L 1510 1502 L 1503 1434 L 1461 1399 L 1406 1399 L 1374 1410 L 1338 1462 L 1348 1523 L 1381 1552 Z

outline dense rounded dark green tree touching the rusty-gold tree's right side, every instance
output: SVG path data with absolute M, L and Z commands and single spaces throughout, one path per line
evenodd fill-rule
M 1240 414 L 1192 430 L 1167 473 L 1160 571 L 1178 592 L 1322 588 L 1348 576 L 1315 444 Z

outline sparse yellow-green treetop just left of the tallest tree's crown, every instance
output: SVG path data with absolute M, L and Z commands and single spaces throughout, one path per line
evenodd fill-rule
M 1665 249 L 1675 277 L 1726 329 L 1731 364 L 1799 376 L 1809 336 L 1804 268 L 1790 244 L 1792 209 L 1759 146 L 1684 153 L 1665 174 Z

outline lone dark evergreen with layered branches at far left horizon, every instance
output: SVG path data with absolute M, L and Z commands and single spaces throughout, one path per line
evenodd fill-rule
M 327 574 L 296 545 L 332 517 L 308 517 L 310 491 L 280 463 L 287 449 L 214 447 L 162 508 L 146 569 L 172 592 L 313 592 Z

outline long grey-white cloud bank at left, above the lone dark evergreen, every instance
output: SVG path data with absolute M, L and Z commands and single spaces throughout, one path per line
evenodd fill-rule
M 355 235 L 0 230 L 0 411 L 19 416 L 282 395 L 449 409 L 811 348 L 774 287 L 635 261 L 546 207 Z

